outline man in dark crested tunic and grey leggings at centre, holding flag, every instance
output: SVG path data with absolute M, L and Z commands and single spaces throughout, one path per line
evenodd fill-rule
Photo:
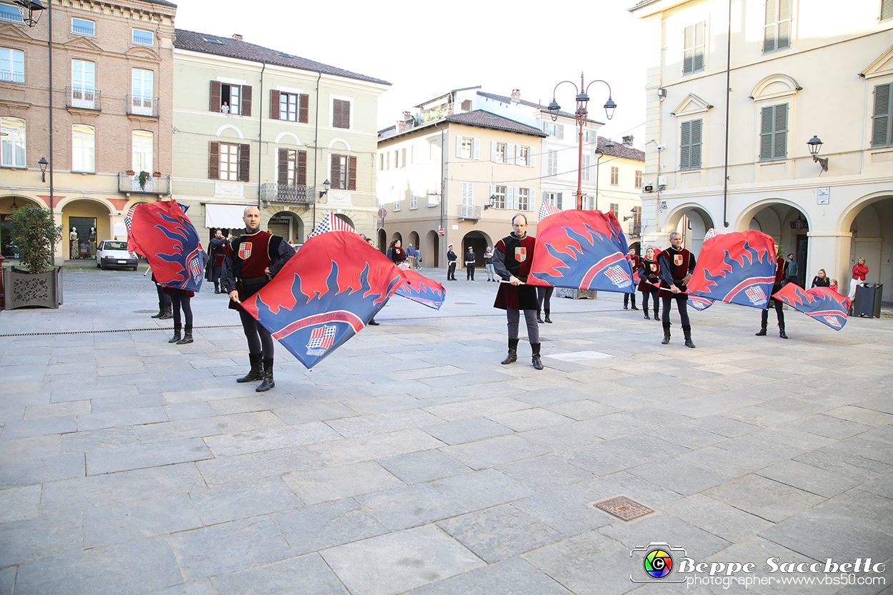
M 515 218 L 523 215 L 515 215 Z M 526 217 L 524 228 L 526 229 Z M 536 239 L 523 233 L 518 235 L 512 232 L 510 235 L 497 241 L 493 251 L 493 267 L 505 281 L 516 277 L 520 281 L 527 281 L 530 274 L 530 264 L 533 261 L 533 247 Z M 543 365 L 539 358 L 539 326 L 537 324 L 538 310 L 537 288 L 533 285 L 512 285 L 500 283 L 497 292 L 495 308 L 505 310 L 508 320 L 508 356 L 503 364 L 511 364 L 518 359 L 518 323 L 521 318 L 520 311 L 524 311 L 524 320 L 527 323 L 527 337 L 530 339 L 530 349 L 533 352 L 533 367 L 542 370 Z

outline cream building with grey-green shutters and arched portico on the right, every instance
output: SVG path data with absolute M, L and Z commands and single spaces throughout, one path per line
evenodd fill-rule
M 824 269 L 848 291 L 861 256 L 889 300 L 889 4 L 856 0 L 840 12 L 829 0 L 644 0 L 630 9 L 653 42 L 647 241 L 663 246 L 681 230 L 697 251 L 711 227 L 762 230 L 796 255 L 806 287 Z M 827 171 L 810 154 L 814 137 Z

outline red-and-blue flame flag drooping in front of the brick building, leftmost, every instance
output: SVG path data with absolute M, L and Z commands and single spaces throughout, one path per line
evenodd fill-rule
M 146 256 L 155 281 L 187 291 L 202 289 L 202 242 L 176 200 L 133 205 L 124 224 L 128 250 Z

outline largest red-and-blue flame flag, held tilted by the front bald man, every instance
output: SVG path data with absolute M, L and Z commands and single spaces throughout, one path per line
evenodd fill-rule
M 307 239 L 242 307 L 309 369 L 361 331 L 402 281 L 355 231 L 330 231 Z

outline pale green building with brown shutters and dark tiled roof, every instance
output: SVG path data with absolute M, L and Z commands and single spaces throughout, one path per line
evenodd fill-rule
M 174 197 L 190 206 L 200 235 L 244 227 L 248 205 L 261 209 L 263 229 L 293 244 L 330 212 L 374 235 L 387 81 L 241 36 L 178 29 L 175 46 Z

